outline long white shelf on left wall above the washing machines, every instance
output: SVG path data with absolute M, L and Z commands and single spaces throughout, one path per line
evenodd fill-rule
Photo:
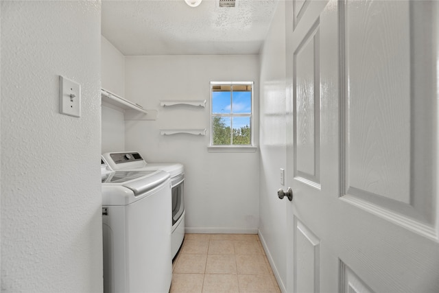
M 157 110 L 146 110 L 141 105 L 134 104 L 128 101 L 128 99 L 124 99 L 106 89 L 101 89 L 101 101 L 103 104 L 110 104 L 121 108 L 125 120 L 155 120 L 157 118 Z

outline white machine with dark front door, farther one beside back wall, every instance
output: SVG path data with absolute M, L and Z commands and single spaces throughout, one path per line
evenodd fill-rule
M 102 159 L 114 170 L 163 170 L 171 176 L 171 247 L 175 257 L 185 237 L 185 169 L 180 163 L 147 163 L 139 152 L 107 152 Z

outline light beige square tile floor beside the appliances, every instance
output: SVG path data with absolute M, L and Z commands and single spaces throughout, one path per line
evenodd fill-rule
M 258 235 L 186 234 L 171 293 L 279 293 Z

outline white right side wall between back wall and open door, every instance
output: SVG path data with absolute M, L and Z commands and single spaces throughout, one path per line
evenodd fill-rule
M 259 235 L 283 292 L 287 281 L 287 200 L 279 200 L 286 167 L 285 1 L 279 1 L 261 51 Z M 288 174 L 285 174 L 288 176 Z

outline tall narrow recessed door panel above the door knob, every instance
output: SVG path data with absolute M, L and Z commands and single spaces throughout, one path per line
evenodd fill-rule
M 293 54 L 294 178 L 320 189 L 320 19 Z

